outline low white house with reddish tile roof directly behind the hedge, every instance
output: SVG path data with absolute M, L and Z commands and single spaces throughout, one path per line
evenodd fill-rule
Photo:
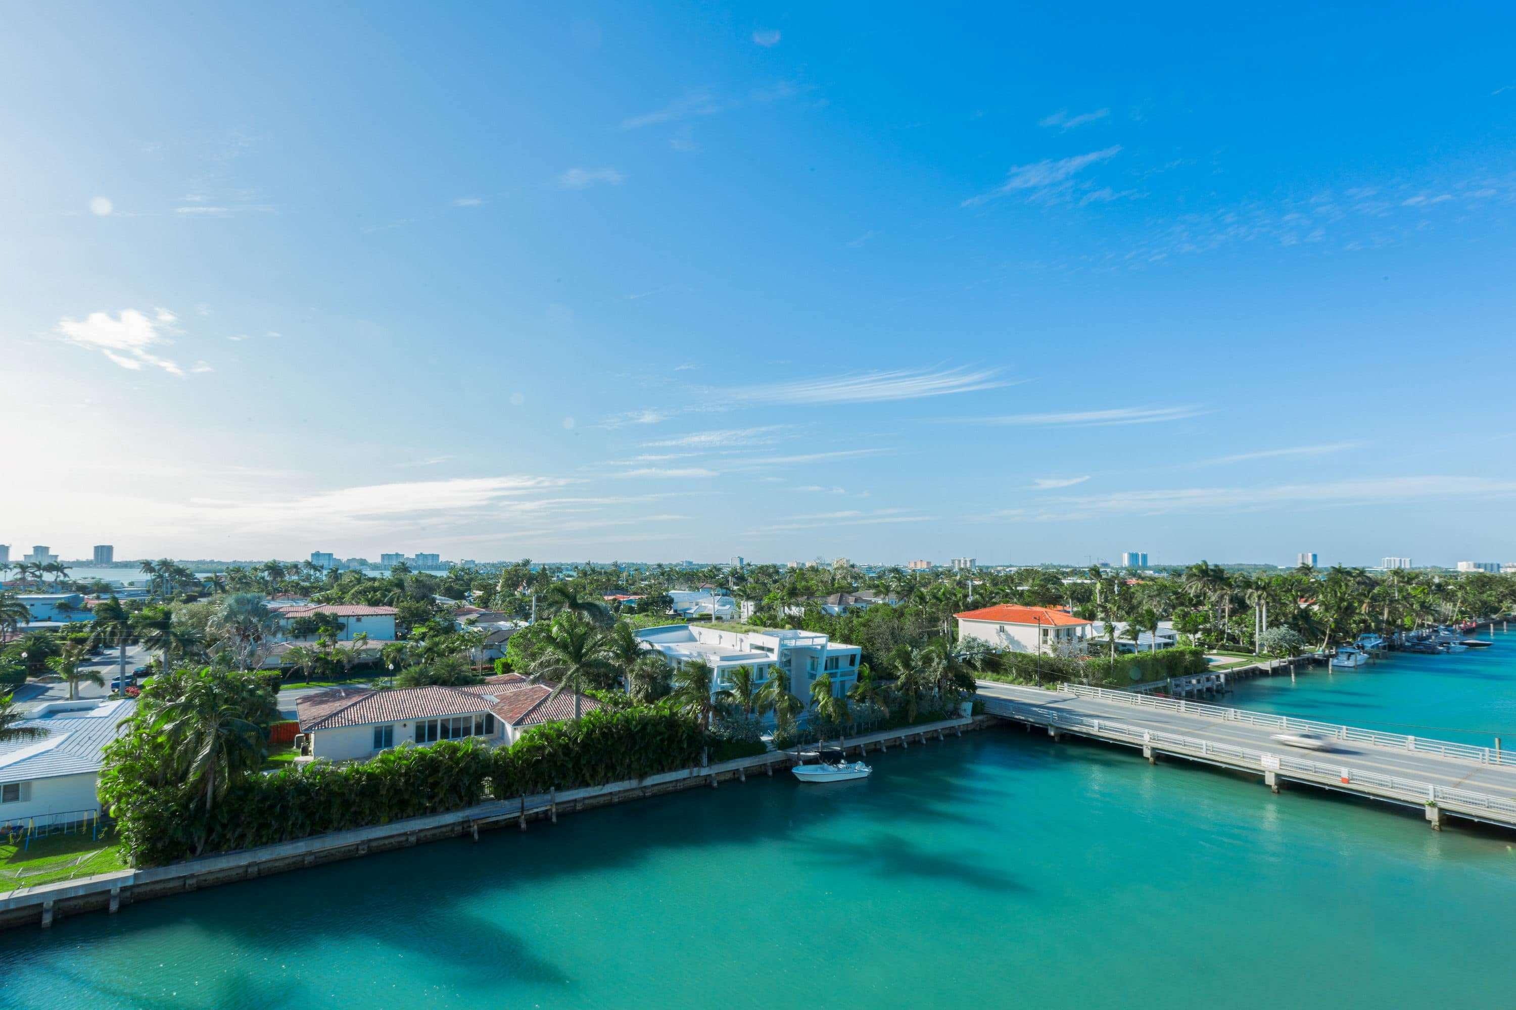
M 581 715 L 599 707 L 594 698 L 579 697 Z M 514 743 L 534 725 L 572 719 L 575 697 L 553 697 L 549 684 L 502 674 L 458 687 L 332 687 L 300 698 L 296 713 L 306 737 L 302 751 L 312 759 L 352 762 L 406 742 L 426 747 L 478 737 L 491 747 Z

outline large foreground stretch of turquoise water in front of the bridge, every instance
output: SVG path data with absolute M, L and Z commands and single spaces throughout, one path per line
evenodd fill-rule
M 1299 681 L 1289 698 L 1310 697 Z M 1013 728 L 870 760 L 861 783 L 723 784 L 3 933 L 0 1007 L 1384 1010 L 1516 992 L 1504 834 Z

